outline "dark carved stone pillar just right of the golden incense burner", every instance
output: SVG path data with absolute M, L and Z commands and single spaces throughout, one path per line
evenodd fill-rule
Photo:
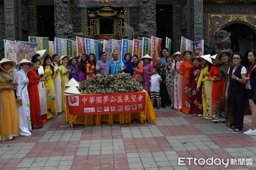
M 143 30 L 147 29 L 149 36 L 156 36 L 157 21 L 156 21 L 156 1 L 147 0 L 147 3 L 141 6 L 141 22 Z

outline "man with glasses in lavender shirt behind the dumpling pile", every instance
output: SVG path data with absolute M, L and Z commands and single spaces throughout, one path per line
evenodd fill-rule
M 107 60 L 107 53 L 102 52 L 100 55 L 101 60 L 96 63 L 97 74 L 109 74 L 109 61 Z

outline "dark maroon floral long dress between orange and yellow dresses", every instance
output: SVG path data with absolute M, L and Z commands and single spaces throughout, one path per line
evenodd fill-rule
M 201 74 L 202 66 L 193 67 L 190 69 L 189 74 L 189 88 L 191 88 L 191 110 L 192 114 L 202 114 L 203 104 L 202 104 L 202 86 L 200 86 L 199 91 L 196 90 L 198 79 Z

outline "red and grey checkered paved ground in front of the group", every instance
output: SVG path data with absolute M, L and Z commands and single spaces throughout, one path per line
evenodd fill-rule
M 233 134 L 220 122 L 161 108 L 157 121 L 142 125 L 74 125 L 64 113 L 53 116 L 31 136 L 0 141 L 2 170 L 256 170 L 256 136 Z M 251 116 L 244 117 L 244 130 Z M 150 126 L 154 125 L 154 127 Z M 243 130 L 243 131 L 244 131 Z M 253 159 L 252 165 L 199 165 L 178 158 Z M 242 161 L 243 162 L 243 161 Z

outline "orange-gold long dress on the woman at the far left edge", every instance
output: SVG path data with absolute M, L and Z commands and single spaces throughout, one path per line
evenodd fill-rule
M 12 86 L 11 74 L 1 74 L 3 83 L 0 84 L 0 135 L 3 141 L 19 136 L 20 125 L 16 99 L 13 90 L 2 90 L 3 86 Z

